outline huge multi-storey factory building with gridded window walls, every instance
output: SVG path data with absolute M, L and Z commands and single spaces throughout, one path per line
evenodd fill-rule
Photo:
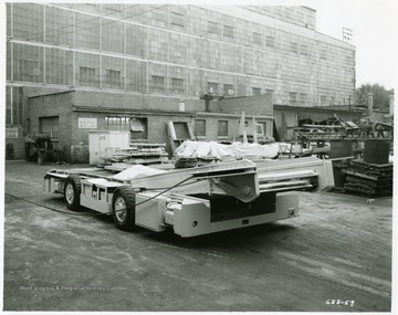
M 61 143 L 56 112 L 43 111 L 32 122 L 28 104 L 31 97 L 38 103 L 35 96 L 67 91 L 87 97 L 81 101 L 91 108 L 84 118 L 96 128 L 175 113 L 190 117 L 207 139 L 220 136 L 211 124 L 226 119 L 217 113 L 239 119 L 241 111 L 218 104 L 230 97 L 264 95 L 264 108 L 254 106 L 253 113 L 244 101 L 241 108 L 264 122 L 273 105 L 348 105 L 355 48 L 316 32 L 315 13 L 306 7 L 8 3 L 7 144 L 22 157 L 27 133 L 51 132 Z M 101 105 L 106 116 L 97 115 L 94 94 L 108 99 Z M 207 96 L 224 99 L 208 101 L 209 109 Z M 213 123 L 192 115 L 209 111 Z M 106 124 L 109 118 L 113 123 Z M 233 134 L 232 120 L 221 125 L 223 136 Z M 73 126 L 80 129 L 76 122 Z M 272 127 L 265 129 L 271 136 Z

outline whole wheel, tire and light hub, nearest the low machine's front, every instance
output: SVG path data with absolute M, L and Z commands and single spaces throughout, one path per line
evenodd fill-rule
M 112 212 L 117 229 L 133 231 L 135 229 L 135 192 L 130 187 L 119 187 L 112 198 Z

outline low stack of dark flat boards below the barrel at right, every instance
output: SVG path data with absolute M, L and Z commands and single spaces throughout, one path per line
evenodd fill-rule
M 352 160 L 345 170 L 344 189 L 366 196 L 392 196 L 392 164 Z

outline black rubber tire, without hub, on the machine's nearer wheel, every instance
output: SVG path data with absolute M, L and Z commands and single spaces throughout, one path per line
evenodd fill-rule
M 126 204 L 126 216 L 123 221 L 116 217 L 115 202 L 117 198 L 123 198 Z M 135 224 L 135 191 L 130 187 L 119 187 L 112 197 L 112 213 L 117 229 L 132 232 L 136 229 Z

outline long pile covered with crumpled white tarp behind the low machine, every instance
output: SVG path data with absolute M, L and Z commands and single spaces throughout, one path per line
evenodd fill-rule
M 243 159 L 243 158 L 275 158 L 279 145 L 274 144 L 243 144 L 232 143 L 223 145 L 216 141 L 184 141 L 177 149 L 176 156 L 181 158 L 201 159 Z

